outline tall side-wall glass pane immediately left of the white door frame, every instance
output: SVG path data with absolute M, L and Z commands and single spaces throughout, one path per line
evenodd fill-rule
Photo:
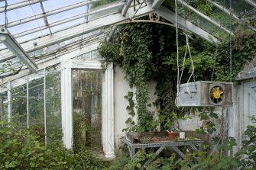
M 61 140 L 61 82 L 60 71 L 54 68 L 46 71 L 46 127 L 47 143 Z

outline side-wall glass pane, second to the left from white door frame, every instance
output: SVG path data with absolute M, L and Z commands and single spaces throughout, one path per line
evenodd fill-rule
M 39 133 L 44 142 L 44 77 L 29 79 L 28 87 L 29 127 Z

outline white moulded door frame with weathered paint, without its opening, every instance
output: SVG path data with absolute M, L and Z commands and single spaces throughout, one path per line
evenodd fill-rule
M 73 148 L 72 69 L 104 69 L 102 82 L 102 146 L 106 158 L 114 158 L 113 63 L 67 60 L 61 63 L 61 117 L 63 143 Z

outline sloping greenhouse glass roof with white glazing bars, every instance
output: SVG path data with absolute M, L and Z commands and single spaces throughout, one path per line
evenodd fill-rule
M 112 30 L 114 24 L 152 12 L 157 13 L 162 7 L 172 11 L 170 14 L 167 11 L 167 16 L 175 12 L 174 0 L 164 2 L 161 0 L 147 2 L 144 0 L 135 2 L 132 0 L 7 0 L 7 2 L 7 29 L 21 47 L 32 58 L 34 57 L 36 63 L 44 60 L 38 56 L 47 57 L 47 53 L 61 50 L 66 45 L 76 46 L 81 40 L 87 45 L 106 40 L 106 37 L 115 31 Z M 177 0 L 177 4 L 177 14 L 193 24 L 189 29 L 193 34 L 200 36 L 196 31 L 202 29 L 222 40 L 229 34 L 235 34 L 241 24 L 256 31 L 255 0 Z M 0 25 L 5 27 L 5 1 L 0 2 Z M 186 29 L 186 25 L 183 28 Z M 39 45 L 31 47 L 34 42 Z M 0 57 L 0 69 L 8 69 L 5 67 L 6 63 L 11 63 L 16 69 L 21 65 L 2 43 L 0 43 Z

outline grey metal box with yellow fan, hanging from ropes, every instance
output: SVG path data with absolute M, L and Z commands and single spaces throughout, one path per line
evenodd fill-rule
M 230 106 L 232 82 L 189 82 L 180 85 L 177 106 Z

